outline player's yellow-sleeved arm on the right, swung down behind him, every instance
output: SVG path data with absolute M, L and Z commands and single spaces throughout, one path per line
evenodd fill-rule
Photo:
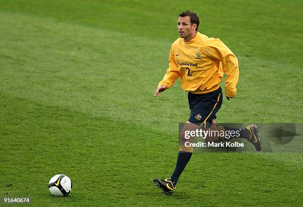
M 221 61 L 225 79 L 225 95 L 227 99 L 237 94 L 237 83 L 239 80 L 239 66 L 236 55 L 220 40 L 211 38 L 207 44 L 206 55 Z

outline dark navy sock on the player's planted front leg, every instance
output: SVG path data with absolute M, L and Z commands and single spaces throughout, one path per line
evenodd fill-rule
M 179 179 L 181 173 L 183 172 L 185 166 L 190 161 L 190 159 L 192 157 L 192 154 L 193 153 L 191 153 L 191 152 L 179 151 L 175 170 L 174 170 L 173 174 L 170 177 L 171 180 L 174 182 L 174 185 L 177 184 L 178 179 Z

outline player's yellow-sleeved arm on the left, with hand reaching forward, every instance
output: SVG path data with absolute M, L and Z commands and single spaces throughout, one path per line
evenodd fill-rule
M 173 46 L 171 46 L 169 52 L 168 69 L 166 70 L 166 74 L 164 75 L 162 81 L 159 82 L 158 88 L 154 91 L 154 96 L 159 96 L 160 92 L 173 86 L 179 77 L 180 73 L 175 62 Z

